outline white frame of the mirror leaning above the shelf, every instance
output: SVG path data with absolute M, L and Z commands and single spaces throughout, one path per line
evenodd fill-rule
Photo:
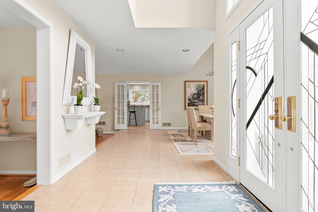
M 88 84 L 86 86 L 87 97 L 83 97 L 82 105 L 91 106 L 93 103 L 92 85 L 91 85 L 92 83 L 91 81 L 92 80 L 91 49 L 90 49 L 90 45 L 82 37 L 80 37 L 79 34 L 75 32 L 73 29 L 71 29 L 71 34 L 70 34 L 69 51 L 68 51 L 68 59 L 66 64 L 62 104 L 63 105 L 76 104 L 77 97 L 71 96 L 76 44 L 79 44 L 85 50 L 86 79 L 84 80 L 87 80 Z

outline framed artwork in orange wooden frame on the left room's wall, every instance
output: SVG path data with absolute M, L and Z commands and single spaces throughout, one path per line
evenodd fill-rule
M 36 120 L 36 77 L 21 77 L 22 120 Z

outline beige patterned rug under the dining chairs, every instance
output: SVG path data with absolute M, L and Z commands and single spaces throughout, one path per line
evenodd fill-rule
M 168 134 L 179 154 L 214 154 L 213 143 L 204 136 L 198 135 L 198 142 L 194 142 L 188 131 L 168 131 Z

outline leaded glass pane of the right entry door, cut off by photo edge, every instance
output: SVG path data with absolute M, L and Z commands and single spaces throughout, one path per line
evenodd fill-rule
M 318 212 L 318 1 L 300 1 L 301 209 Z

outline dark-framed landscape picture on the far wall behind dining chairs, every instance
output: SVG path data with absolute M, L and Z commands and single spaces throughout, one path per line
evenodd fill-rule
M 208 81 L 184 81 L 184 110 L 187 107 L 198 109 L 199 105 L 207 105 Z

